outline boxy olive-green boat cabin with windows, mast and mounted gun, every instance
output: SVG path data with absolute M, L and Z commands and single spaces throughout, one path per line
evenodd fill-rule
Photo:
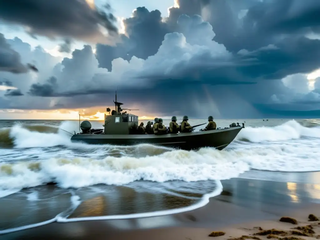
M 116 110 L 107 108 L 109 115 L 104 114 L 104 134 L 130 134 L 133 126 L 138 127 L 138 116 L 127 113 L 122 113 L 123 110 L 139 110 L 139 109 L 122 109 L 121 102 L 113 101 L 116 105 Z

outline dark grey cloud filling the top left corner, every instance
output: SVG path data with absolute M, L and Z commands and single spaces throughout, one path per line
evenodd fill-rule
M 28 27 L 32 35 L 93 39 L 102 36 L 99 25 L 117 33 L 116 18 L 91 9 L 85 0 L 0 0 L 0 19 Z

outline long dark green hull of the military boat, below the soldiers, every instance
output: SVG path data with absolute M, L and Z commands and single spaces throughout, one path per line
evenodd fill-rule
M 132 146 L 138 144 L 152 144 L 183 150 L 196 150 L 212 147 L 219 150 L 227 147 L 243 127 L 231 127 L 203 132 L 189 132 L 165 135 L 108 135 L 108 134 L 75 134 L 73 142 L 88 144 L 108 144 L 116 146 Z

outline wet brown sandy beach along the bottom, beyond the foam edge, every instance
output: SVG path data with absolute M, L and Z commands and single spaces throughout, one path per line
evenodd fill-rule
M 306 184 L 231 179 L 222 181 L 222 185 L 223 195 L 214 197 L 206 206 L 189 212 L 129 220 L 55 222 L 5 234 L 0 238 L 196 240 L 212 239 L 208 236 L 212 231 L 223 231 L 226 233 L 224 236 L 213 239 L 229 239 L 258 232 L 254 227 L 291 231 L 290 228 L 313 223 L 308 221 L 309 214 L 320 217 L 319 205 L 315 203 L 318 200 L 317 192 L 310 192 Z M 320 198 L 320 192 L 317 194 Z M 279 222 L 282 216 L 293 217 L 299 224 Z M 318 230 L 320 227 L 316 222 L 313 238 L 317 236 Z M 266 236 L 259 237 L 267 239 Z

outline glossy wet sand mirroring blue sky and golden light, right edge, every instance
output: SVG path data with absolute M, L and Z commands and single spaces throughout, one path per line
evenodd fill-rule
M 320 202 L 320 185 L 235 178 L 222 180 L 223 192 L 215 199 L 263 212 Z M 272 207 L 271 207 L 272 206 Z

